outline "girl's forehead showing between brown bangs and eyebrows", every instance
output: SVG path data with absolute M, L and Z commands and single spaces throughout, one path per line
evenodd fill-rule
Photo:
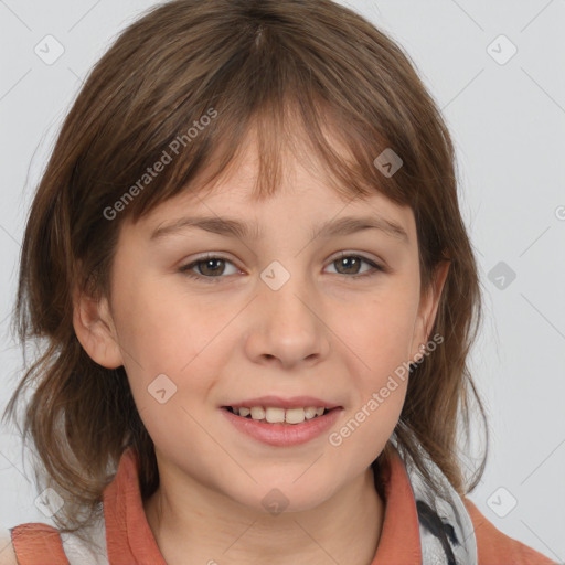
M 352 159 L 343 142 L 331 136 L 331 132 L 327 135 L 342 157 Z M 409 206 L 398 205 L 376 188 L 369 195 L 353 191 L 349 195 L 338 192 L 332 186 L 327 167 L 308 150 L 303 137 L 297 136 L 295 141 L 296 145 L 281 145 L 281 177 L 271 195 L 262 196 L 260 200 L 255 196 L 259 158 L 257 138 L 252 129 L 238 153 L 214 182 L 202 182 L 207 173 L 204 168 L 185 190 L 143 216 L 138 227 L 146 236 L 149 234 L 153 238 L 174 228 L 175 224 L 186 224 L 189 216 L 192 220 L 205 217 L 204 223 L 211 227 L 210 231 L 260 238 L 269 225 L 276 222 L 285 222 L 294 228 L 305 226 L 310 230 L 312 225 L 318 226 L 317 230 L 310 230 L 311 235 L 321 231 L 322 224 L 326 224 L 329 235 L 330 222 L 334 225 L 341 222 L 344 232 L 348 230 L 344 225 L 347 218 L 373 217 L 390 234 L 396 232 L 396 236 L 402 237 L 404 233 L 406 239 L 415 239 L 414 214 Z

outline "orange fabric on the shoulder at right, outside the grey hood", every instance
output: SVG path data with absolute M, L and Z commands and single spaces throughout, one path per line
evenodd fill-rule
M 479 565 L 555 565 L 545 555 L 503 534 L 489 522 L 469 499 L 463 499 L 477 537 Z

